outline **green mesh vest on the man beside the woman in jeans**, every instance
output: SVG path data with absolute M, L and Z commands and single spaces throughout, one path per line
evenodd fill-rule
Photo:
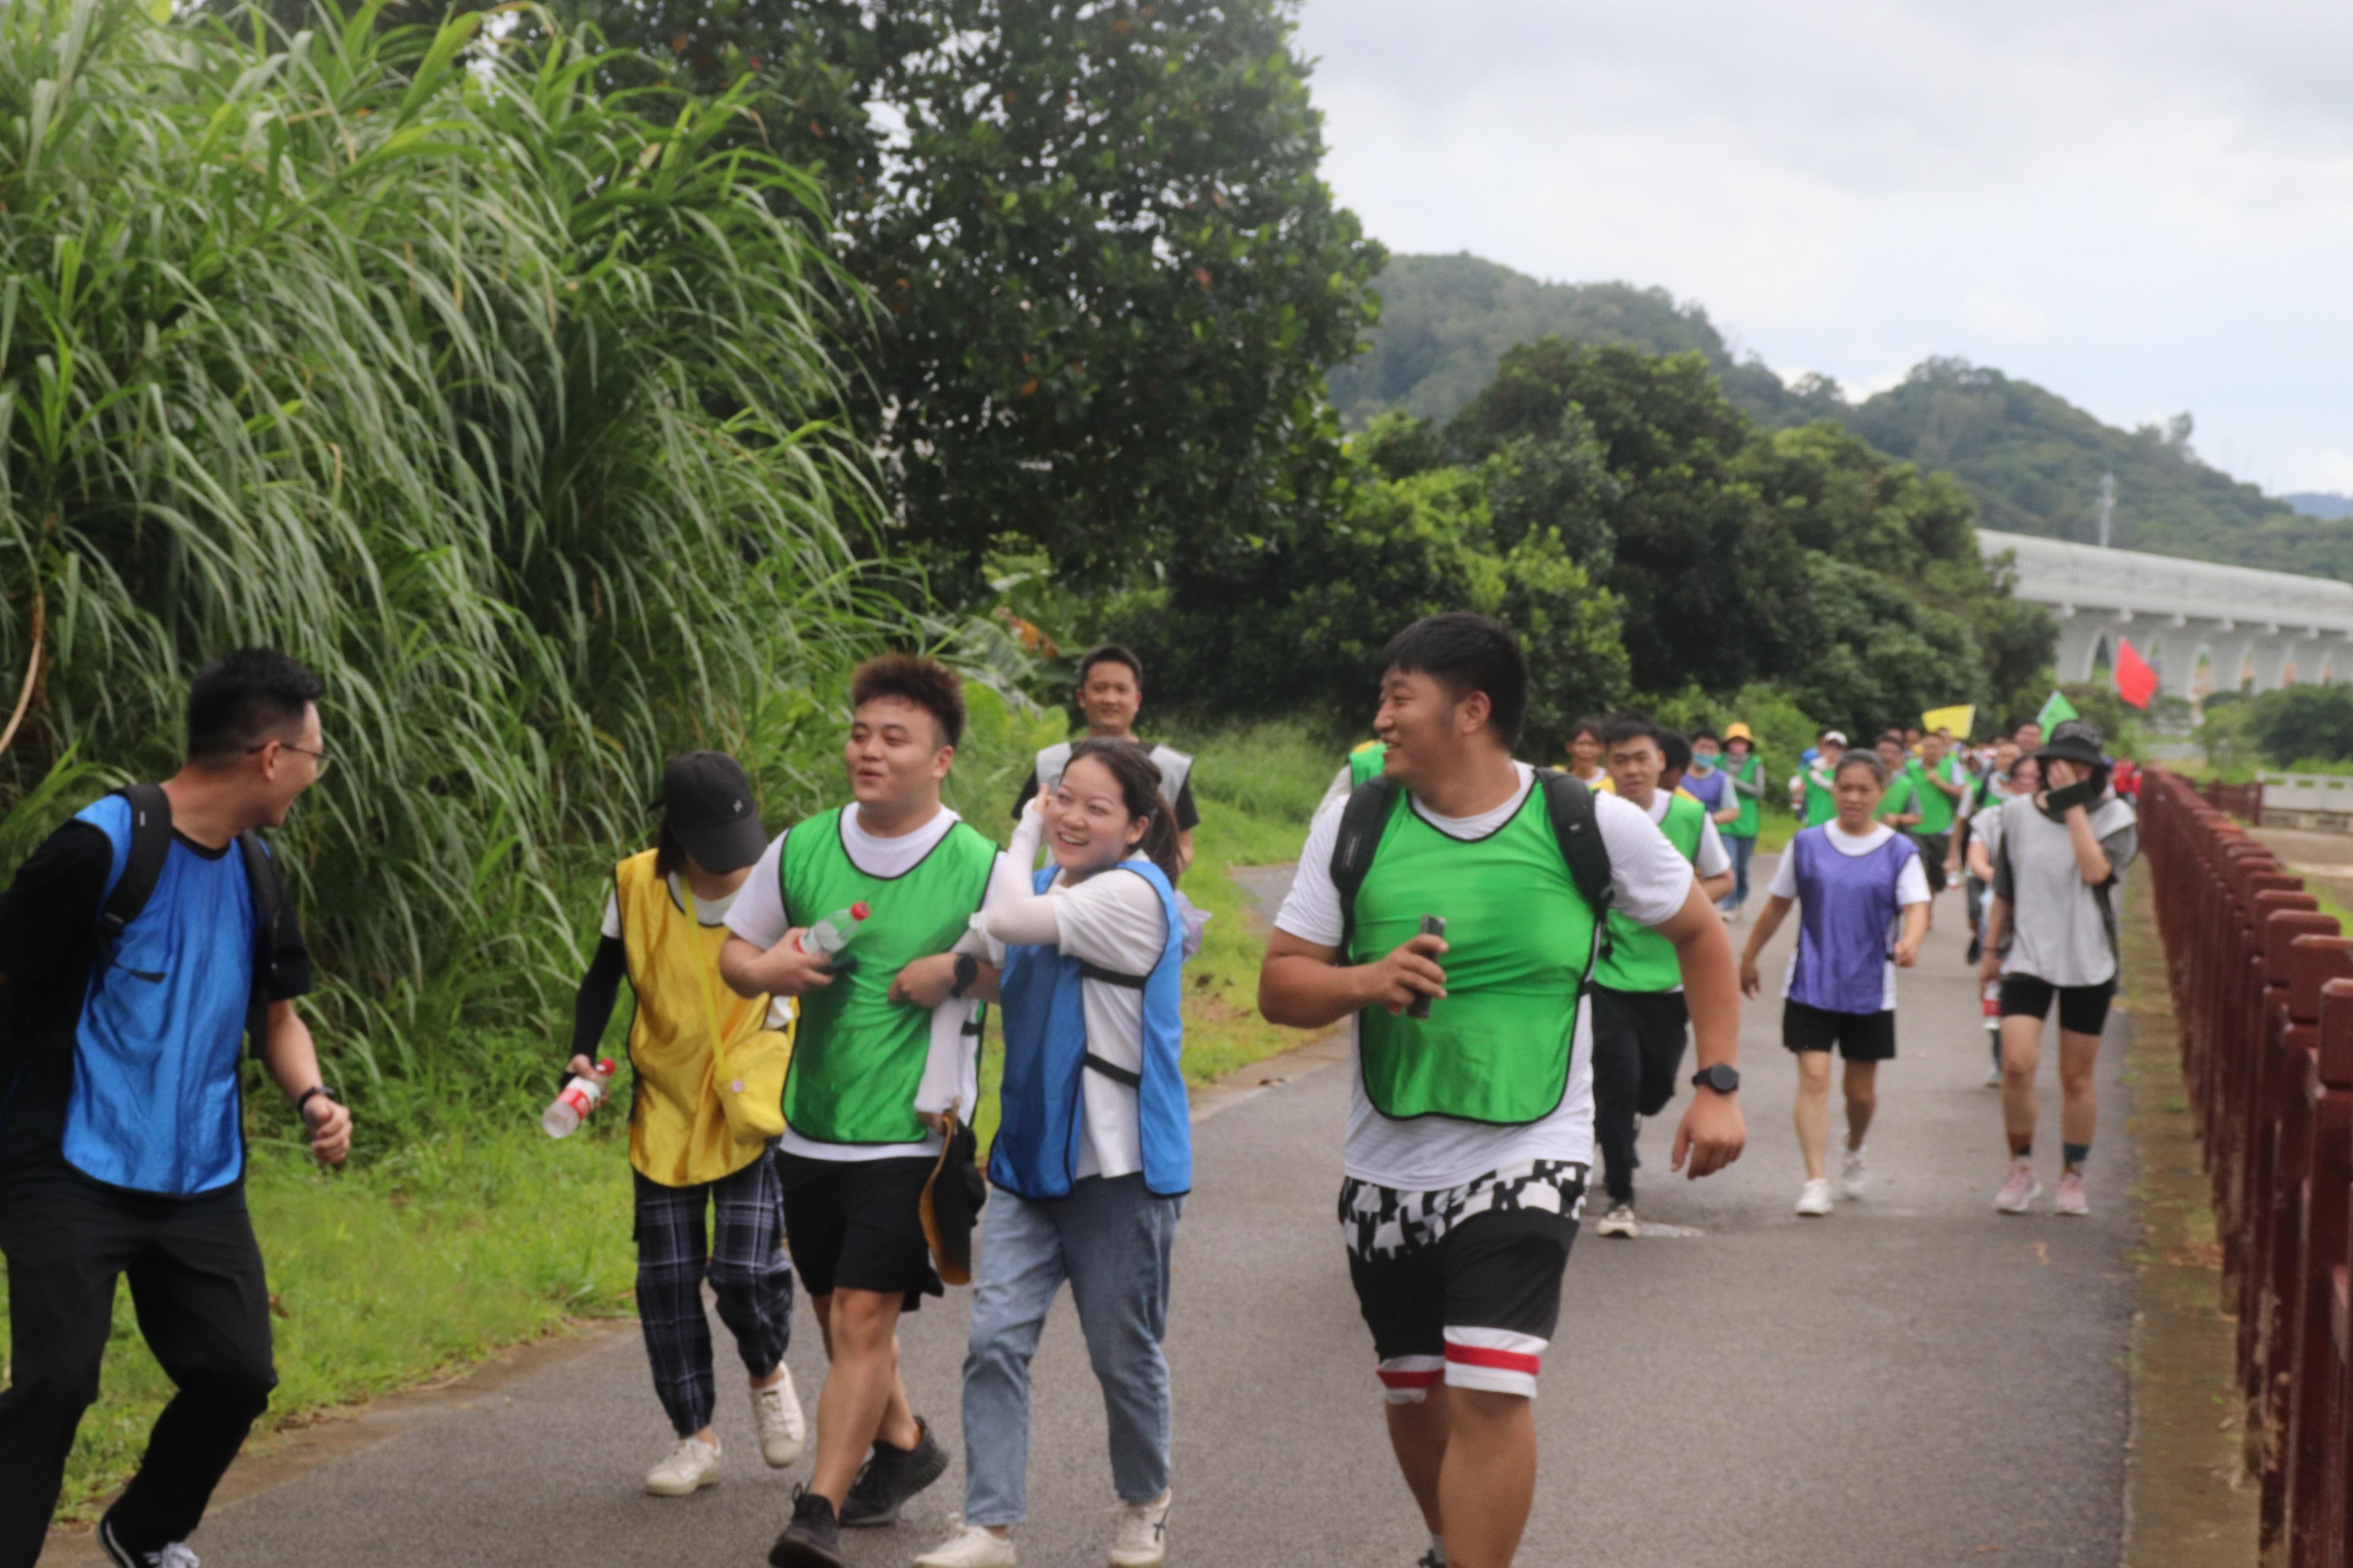
M 793 926 L 861 900 L 871 910 L 840 954 L 854 959 L 849 971 L 800 999 L 784 1121 L 816 1143 L 915 1143 L 929 1131 L 915 1114 L 915 1091 L 932 1053 L 932 1011 L 892 1001 L 889 983 L 965 936 L 988 898 L 998 846 L 955 823 L 913 870 L 873 877 L 842 849 L 842 811 L 849 806 L 784 835 L 779 884 Z

